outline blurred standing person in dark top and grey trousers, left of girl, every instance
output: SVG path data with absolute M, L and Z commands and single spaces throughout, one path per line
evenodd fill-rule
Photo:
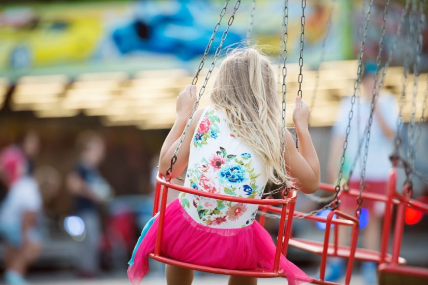
M 99 274 L 101 207 L 109 201 L 112 189 L 98 171 L 104 159 L 103 139 L 94 132 L 78 136 L 79 159 L 74 171 L 67 177 L 67 188 L 74 197 L 74 212 L 85 224 L 85 239 L 81 243 L 79 275 L 95 277 Z

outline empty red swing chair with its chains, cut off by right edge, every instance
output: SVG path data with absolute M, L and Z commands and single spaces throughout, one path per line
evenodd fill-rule
M 403 88 L 402 96 L 400 97 L 400 108 L 399 115 L 397 119 L 397 133 L 395 136 L 395 149 L 394 153 L 391 156 L 392 169 L 389 176 L 389 191 L 388 191 L 388 200 L 386 203 L 385 219 L 392 219 L 393 207 L 397 206 L 395 214 L 395 225 L 392 238 L 392 260 L 387 262 L 385 259 L 385 252 L 390 244 L 390 232 L 391 232 L 391 223 L 385 223 L 383 225 L 382 231 L 382 242 L 381 242 L 381 263 L 379 265 L 379 283 L 380 284 L 405 284 L 411 282 L 412 284 L 426 284 L 428 283 L 428 268 L 412 267 L 401 265 L 398 262 L 397 256 L 399 255 L 402 238 L 404 233 L 404 220 L 405 220 L 405 211 L 406 208 L 411 208 L 421 212 L 422 214 L 428 214 L 428 204 L 415 201 L 412 199 L 413 193 L 413 175 L 415 173 L 415 157 L 416 149 L 418 145 L 418 140 L 420 138 L 420 129 L 419 136 L 415 139 L 416 130 L 415 130 L 415 112 L 416 112 L 416 88 L 418 84 L 418 68 L 420 63 L 420 53 L 422 45 L 422 29 L 425 24 L 425 15 L 424 8 L 426 5 L 426 0 L 422 0 L 419 5 L 419 21 L 418 29 L 416 32 L 414 30 L 414 24 L 416 21 L 416 3 L 413 3 L 413 18 L 410 19 L 410 33 L 407 37 L 407 42 L 412 43 L 412 37 L 417 37 L 416 48 L 409 50 L 410 46 L 407 44 L 406 54 L 412 55 L 412 51 L 416 51 L 416 57 L 413 66 L 413 94 L 412 94 L 412 110 L 411 110 L 411 120 L 409 123 L 409 143 L 407 147 L 407 157 L 404 158 L 400 154 L 400 146 L 402 143 L 402 137 L 400 135 L 400 127 L 403 125 L 403 106 L 406 100 L 406 83 L 407 76 L 409 74 L 409 65 L 410 59 L 404 63 L 404 72 L 403 72 Z M 409 57 L 410 58 L 410 57 Z M 426 100 L 428 99 L 428 89 L 425 92 L 424 103 L 422 106 L 422 113 L 419 119 L 419 127 L 424 120 L 424 112 L 426 107 Z M 395 191 L 396 180 L 397 180 L 397 167 L 402 164 L 406 173 L 406 180 L 403 186 L 403 194 L 399 194 Z M 398 200 L 398 203 L 395 201 Z

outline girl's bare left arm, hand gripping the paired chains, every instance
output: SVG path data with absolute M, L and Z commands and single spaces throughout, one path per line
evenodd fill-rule
M 159 157 L 158 170 L 163 176 L 166 175 L 167 169 L 171 165 L 171 158 L 180 141 L 186 122 L 192 114 L 192 108 L 196 98 L 196 85 L 186 86 L 177 97 L 177 117 L 171 131 L 162 145 L 161 155 Z M 178 152 L 177 161 L 172 169 L 171 178 L 175 178 L 180 175 L 189 163 L 190 144 L 202 113 L 203 110 L 198 110 L 193 116 L 192 123 L 190 124 L 188 132 L 180 147 L 180 151 Z

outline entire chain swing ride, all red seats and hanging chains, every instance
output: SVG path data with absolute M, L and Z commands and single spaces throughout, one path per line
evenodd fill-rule
M 412 10 L 410 10 L 410 5 L 412 1 Z M 316 195 L 307 195 L 310 199 L 313 199 L 316 202 L 329 202 L 323 208 L 312 211 L 310 213 L 301 213 L 298 211 L 295 211 L 295 204 L 297 200 L 297 192 L 298 189 L 283 186 L 280 189 L 273 190 L 269 193 L 263 194 L 263 196 L 272 196 L 273 194 L 280 193 L 281 198 L 280 199 L 273 199 L 273 198 L 267 198 L 267 199 L 249 199 L 249 198 L 243 198 L 243 197 L 235 197 L 235 196 L 229 196 L 229 195 L 222 195 L 222 194 L 216 194 L 216 193 L 208 193 L 204 191 L 195 190 L 192 188 L 179 186 L 176 184 L 173 184 L 171 182 L 171 173 L 173 166 L 177 160 L 177 154 L 180 150 L 181 144 L 184 140 L 184 137 L 186 136 L 186 133 L 188 132 L 189 126 L 191 124 L 191 121 L 193 119 L 193 115 L 198 108 L 199 101 L 205 91 L 206 85 L 208 83 L 208 80 L 212 74 L 213 68 L 216 65 L 216 62 L 218 60 L 218 57 L 220 55 L 220 52 L 223 47 L 223 43 L 225 42 L 229 29 L 233 23 L 233 20 L 235 18 L 236 11 L 238 10 L 241 0 L 236 0 L 235 6 L 233 8 L 233 11 L 229 17 L 229 20 L 227 22 L 227 27 L 225 31 L 223 32 L 221 36 L 220 43 L 218 47 L 215 50 L 215 53 L 213 54 L 211 65 L 208 68 L 205 80 L 202 84 L 202 87 L 199 90 L 198 99 L 195 102 L 195 105 L 193 106 L 192 114 L 189 118 L 189 120 L 186 123 L 186 126 L 184 128 L 184 131 L 180 137 L 180 141 L 177 145 L 177 148 L 174 152 L 173 157 L 171 158 L 171 164 L 170 167 L 167 170 L 166 177 L 163 177 L 161 174 L 158 174 L 156 177 L 156 192 L 155 192 L 155 199 L 154 199 L 154 206 L 153 206 L 153 216 L 157 213 L 159 214 L 159 224 L 157 228 L 157 236 L 156 236 L 156 242 L 155 242 L 155 249 L 153 253 L 150 253 L 149 256 L 153 258 L 156 261 L 163 262 L 170 265 L 175 265 L 179 267 L 184 267 L 188 269 L 194 269 L 199 271 L 205 271 L 210 273 L 218 273 L 218 274 L 227 274 L 227 275 L 238 275 L 238 276 L 249 276 L 249 277 L 286 277 L 283 270 L 279 268 L 279 260 L 280 255 L 284 254 L 286 255 L 288 246 L 296 247 L 308 252 L 312 252 L 318 255 L 321 255 L 321 263 L 320 263 L 320 270 L 319 270 L 319 277 L 318 278 L 312 278 L 311 283 L 315 284 L 339 284 L 336 282 L 326 281 L 325 275 L 326 275 L 326 264 L 327 264 L 327 258 L 331 256 L 337 256 L 337 257 L 344 257 L 347 258 L 348 263 L 346 267 L 346 274 L 344 279 L 344 284 L 349 284 L 352 276 L 353 266 L 355 260 L 361 260 L 361 261 L 372 261 L 379 264 L 379 273 L 380 278 L 379 281 L 381 284 L 394 284 L 399 278 L 396 278 L 396 276 L 406 276 L 406 278 L 411 278 L 411 280 L 414 280 L 414 282 L 421 282 L 422 283 L 428 283 L 428 269 L 424 268 L 416 268 L 416 267 L 409 267 L 406 266 L 406 260 L 403 257 L 399 256 L 400 253 L 400 245 L 402 242 L 403 237 L 403 228 L 404 228 L 404 218 L 405 218 L 405 211 L 406 208 L 412 208 L 414 210 L 420 211 L 421 213 L 428 214 L 428 204 L 424 204 L 420 201 L 415 201 L 412 199 L 412 193 L 413 193 L 413 183 L 412 178 L 413 175 L 416 173 L 415 167 L 414 167 L 414 161 L 415 161 L 415 146 L 418 142 L 417 134 L 420 132 L 416 132 L 415 129 L 415 109 L 416 109 L 416 87 L 417 86 L 417 80 L 418 80 L 418 70 L 419 70 L 419 63 L 420 63 L 420 53 L 421 53 L 421 45 L 422 45 L 422 29 L 425 24 L 425 16 L 424 16 L 424 8 L 426 5 L 426 0 L 421 0 L 418 3 L 415 0 L 407 0 L 405 7 L 403 8 L 402 14 L 400 16 L 396 35 L 393 41 L 393 44 L 391 46 L 391 50 L 389 51 L 389 56 L 386 60 L 386 63 L 384 65 L 384 68 L 381 72 L 381 60 L 382 60 L 382 52 L 383 52 L 383 45 L 384 45 L 384 35 L 385 35 L 385 26 L 386 26 L 386 18 L 388 14 L 389 4 L 390 0 L 385 0 L 385 8 L 383 11 L 383 18 L 382 18 L 382 28 L 381 28 L 381 37 L 379 40 L 379 50 L 378 50 L 378 56 L 376 60 L 376 75 L 374 78 L 374 87 L 372 89 L 372 99 L 371 99 L 371 105 L 370 105 L 370 115 L 365 127 L 365 131 L 363 134 L 363 137 L 361 138 L 361 141 L 359 142 L 358 152 L 355 158 L 355 161 L 359 158 L 359 156 L 362 156 L 362 168 L 361 168 L 361 175 L 360 175 L 360 185 L 359 189 L 354 189 L 349 187 L 349 181 L 345 181 L 345 183 L 342 183 L 343 179 L 343 172 L 344 172 L 344 162 L 345 162 L 345 154 L 347 150 L 347 142 L 349 139 L 349 135 L 351 132 L 351 121 L 353 119 L 354 115 L 354 105 L 357 99 L 357 92 L 361 83 L 361 77 L 362 77 L 362 70 L 363 70 L 363 54 L 364 54 L 364 47 L 367 37 L 367 31 L 368 31 L 368 24 L 370 22 L 371 13 L 372 13 L 372 7 L 373 7 L 373 0 L 368 1 L 367 5 L 367 12 L 365 14 L 364 19 L 364 25 L 362 28 L 362 35 L 361 35 L 361 42 L 360 42 L 360 49 L 358 54 L 358 68 L 357 68 L 357 74 L 355 77 L 354 82 L 354 89 L 353 89 L 353 95 L 351 97 L 351 110 L 348 115 L 348 121 L 347 121 L 347 127 L 346 127 L 346 133 L 345 133 L 345 140 L 342 147 L 342 155 L 340 159 L 340 170 L 338 172 L 338 178 L 336 185 L 329 185 L 329 184 L 321 184 L 320 188 L 321 190 L 331 192 L 332 194 L 329 197 L 318 197 Z M 192 84 L 196 84 L 199 78 L 199 74 L 201 70 L 204 67 L 205 60 L 209 54 L 211 44 L 213 40 L 215 39 L 217 32 L 220 28 L 222 19 L 224 15 L 226 14 L 227 7 L 230 3 L 230 0 L 226 0 L 223 9 L 220 13 L 220 18 L 217 21 L 215 28 L 213 29 L 211 38 L 205 48 L 204 55 L 202 57 L 202 60 L 199 64 L 198 70 L 196 72 L 196 75 L 192 81 Z M 299 83 L 299 90 L 298 90 L 298 96 L 302 97 L 302 82 L 303 82 L 303 50 L 304 50 L 304 39 L 305 39 L 305 7 L 306 7 L 306 1 L 302 0 L 302 16 L 301 16 L 301 35 L 300 35 L 300 57 L 299 57 L 299 77 L 298 77 L 298 83 Z M 335 4 L 335 1 L 332 0 L 332 8 L 329 13 L 329 19 L 328 19 L 328 28 L 326 31 L 326 34 L 323 39 L 323 51 L 322 55 L 320 57 L 321 61 L 324 60 L 324 53 L 325 53 L 325 45 L 326 45 L 326 39 L 328 37 L 328 33 L 330 30 L 331 25 L 331 17 L 333 12 L 333 5 Z M 251 32 L 253 28 L 253 22 L 254 22 L 254 13 L 255 13 L 255 7 L 256 7 L 256 0 L 253 0 L 252 3 L 252 9 L 251 9 L 251 15 L 250 15 L 250 24 L 247 32 L 247 42 L 250 42 L 251 39 Z M 419 7 L 419 10 L 417 10 L 417 7 Z M 285 146 L 285 109 L 286 109 L 286 93 L 287 93 L 287 85 L 286 85 L 286 76 L 287 76 L 287 40 L 288 40 L 288 0 L 284 1 L 284 7 L 283 7 L 283 15 L 282 15 L 282 33 L 281 33 L 281 57 L 282 57 L 282 67 L 281 67 L 281 74 L 282 74 L 282 131 L 281 131 L 281 151 L 282 155 L 284 157 L 284 153 L 286 150 Z M 369 147 L 369 141 L 370 141 L 370 131 L 371 131 L 371 125 L 373 121 L 373 113 L 374 109 L 376 108 L 377 103 L 377 97 L 379 95 L 379 91 L 383 86 L 385 74 L 387 72 L 387 69 L 389 67 L 389 64 L 391 63 L 394 50 L 397 44 L 397 41 L 402 34 L 403 26 L 406 21 L 406 17 L 409 18 L 410 22 L 410 31 L 408 31 L 407 34 L 407 42 L 406 42 L 406 52 L 405 52 L 405 62 L 404 62 L 404 83 L 403 83 L 403 91 L 402 96 L 400 98 L 400 108 L 399 108 L 399 116 L 397 119 L 397 126 L 398 131 L 396 133 L 395 137 L 395 150 L 394 153 L 391 156 L 391 162 L 392 162 L 392 169 L 390 171 L 389 175 L 389 183 L 388 183 L 388 193 L 385 195 L 382 194 L 376 194 L 376 193 L 366 193 L 364 192 L 365 185 L 364 185 L 364 179 L 365 179 L 365 169 L 366 169 L 366 163 L 367 163 L 367 156 L 368 156 L 368 147 Z M 416 41 L 416 48 L 412 48 L 412 45 L 414 46 L 414 42 Z M 409 124 L 409 145 L 407 149 L 407 157 L 402 156 L 400 154 L 399 149 L 402 142 L 402 137 L 400 135 L 400 129 L 403 125 L 403 106 L 404 101 L 406 100 L 406 84 L 407 84 L 407 77 L 409 74 L 409 65 L 410 65 L 410 58 L 414 57 L 414 65 L 413 65 L 413 105 L 412 105 L 412 116 L 411 121 Z M 380 76 L 379 76 L 380 75 Z M 315 79 L 315 90 L 313 93 L 312 102 L 315 99 L 316 89 L 318 85 L 319 80 L 319 66 L 316 72 L 316 79 Z M 425 94 L 425 103 L 422 107 L 422 116 L 420 118 L 420 122 L 423 122 L 423 116 L 426 108 L 426 95 Z M 313 105 L 312 105 L 313 107 Z M 364 151 L 362 152 L 364 146 Z M 351 167 L 351 173 L 355 167 L 355 161 L 353 163 L 353 166 Z M 399 166 L 403 166 L 406 173 L 406 181 L 403 186 L 403 193 L 400 194 L 396 192 L 396 181 L 397 181 L 397 168 Z M 283 167 L 285 167 L 285 162 L 283 161 Z M 351 177 L 351 175 L 349 175 Z M 164 220 L 165 220 L 165 211 L 166 211 L 166 203 L 167 203 L 167 197 L 168 197 L 168 191 L 169 189 L 190 193 L 194 195 L 199 195 L 207 198 L 213 198 L 213 199 L 219 199 L 219 200 L 227 200 L 232 202 L 241 202 L 241 203 L 250 203 L 250 204 L 258 204 L 259 205 L 259 211 L 258 214 L 260 216 L 259 223 L 260 225 L 264 226 L 265 218 L 277 218 L 279 219 L 279 229 L 278 229 L 278 238 L 276 241 L 276 253 L 275 253 L 275 259 L 274 259 L 274 266 L 271 271 L 259 271 L 259 270 L 230 270 L 230 269 L 223 269 L 223 268 L 213 268 L 208 266 L 200 266 L 196 264 L 190 264 L 185 263 L 177 260 L 173 260 L 172 258 L 163 256 L 161 253 L 161 243 L 162 243 L 162 237 L 163 237 L 163 227 L 164 227 Z M 354 197 L 357 201 L 357 208 L 355 210 L 354 215 L 349 215 L 344 212 L 340 211 L 340 199 L 344 195 Z M 377 201 L 382 202 L 386 205 L 385 210 L 385 216 L 384 216 L 384 223 L 382 228 L 382 237 L 381 237 L 381 247 L 380 251 L 374 251 L 374 250 L 368 250 L 364 248 L 357 248 L 357 242 L 358 242 L 358 234 L 359 234 L 359 217 L 361 214 L 361 206 L 363 203 L 363 200 L 371 200 L 371 201 Z M 160 203 L 160 206 L 159 206 Z M 393 220 L 393 208 L 397 207 L 396 211 L 396 217 L 395 217 L 395 226 L 393 231 L 393 237 L 392 237 L 392 252 L 388 253 L 389 248 L 389 241 L 390 241 L 390 231 L 392 229 L 392 220 Z M 327 217 L 317 216 L 318 213 L 330 210 Z M 291 237 L 291 230 L 292 230 L 292 221 L 293 218 L 299 218 L 299 219 L 305 219 L 309 221 L 314 222 L 322 222 L 326 224 L 325 234 L 324 234 L 324 240 L 323 242 L 316 242 L 316 241 L 310 241 L 310 240 L 304 240 L 299 238 L 293 238 Z M 343 246 L 339 244 L 339 226 L 347 226 L 351 227 L 352 234 L 350 236 L 350 245 L 349 246 Z M 331 232 L 333 229 L 333 233 Z M 333 243 L 330 243 L 330 237 L 333 236 Z M 394 278 L 391 278 L 390 276 L 395 276 Z

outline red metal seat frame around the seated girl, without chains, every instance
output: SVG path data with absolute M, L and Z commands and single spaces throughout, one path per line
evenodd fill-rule
M 162 193 L 161 193 L 162 188 Z M 240 203 L 248 203 L 248 204 L 258 204 L 263 206 L 271 206 L 272 208 L 279 209 L 281 213 L 280 224 L 278 229 L 278 239 L 277 239 L 277 247 L 275 252 L 275 260 L 274 260 L 274 268 L 272 271 L 261 271 L 261 270 L 231 270 L 225 268 L 215 268 L 209 266 L 201 266 L 186 262 L 180 262 L 174 260 L 172 258 L 161 255 L 161 241 L 163 235 L 163 226 L 165 219 L 165 209 L 167 205 L 167 197 L 168 190 L 174 189 L 177 191 L 195 194 L 198 196 L 203 196 L 207 198 L 226 200 L 232 202 L 240 202 Z M 162 194 L 162 195 L 161 195 Z M 154 196 L 154 204 L 153 204 L 153 216 L 159 212 L 159 224 L 157 228 L 157 236 L 155 242 L 154 252 L 150 253 L 149 256 L 156 261 L 175 265 L 183 268 L 194 269 L 199 271 L 205 271 L 209 273 L 217 273 L 217 274 L 226 274 L 226 275 L 236 275 L 236 276 L 248 276 L 248 277 L 286 277 L 285 272 L 279 268 L 279 261 L 281 252 L 284 251 L 284 247 L 288 244 L 288 239 L 291 234 L 291 223 L 292 219 L 289 217 L 293 217 L 293 212 L 295 208 L 295 203 L 297 200 L 297 190 L 289 189 L 288 193 L 284 190 L 282 192 L 282 199 L 250 199 L 250 198 L 241 198 L 234 197 L 229 195 L 222 195 L 216 193 L 208 193 L 200 190 L 195 190 L 189 187 L 184 187 L 180 185 L 173 184 L 171 182 L 163 179 L 161 174 L 158 173 L 156 176 L 156 192 Z M 160 211 L 159 211 L 159 201 L 161 203 Z M 273 207 L 274 205 L 280 206 L 280 208 Z M 266 210 L 263 210 L 266 211 Z M 285 249 L 286 251 L 286 249 Z

